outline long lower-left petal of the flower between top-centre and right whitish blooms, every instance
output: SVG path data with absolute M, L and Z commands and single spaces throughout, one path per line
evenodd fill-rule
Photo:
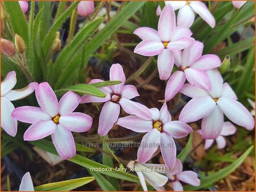
M 184 72 L 176 70 L 174 74 L 171 75 L 170 79 L 166 85 L 166 91 L 164 93 L 164 99 L 170 101 L 179 92 L 181 87 L 184 85 L 186 80 Z

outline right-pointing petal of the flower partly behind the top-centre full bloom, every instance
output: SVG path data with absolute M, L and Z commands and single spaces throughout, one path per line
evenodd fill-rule
M 220 60 L 220 57 L 218 57 L 217 55 L 208 54 L 208 55 L 201 56 L 195 62 L 191 62 L 191 64 L 193 68 L 201 69 L 201 70 L 209 70 L 209 69 L 219 67 L 221 65 L 221 60 Z

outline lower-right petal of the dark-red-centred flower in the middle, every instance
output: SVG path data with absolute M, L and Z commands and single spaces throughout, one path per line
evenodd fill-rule
M 152 119 L 150 110 L 141 103 L 131 101 L 126 98 L 121 98 L 119 104 L 123 110 L 130 115 L 137 115 L 139 118 L 150 120 Z

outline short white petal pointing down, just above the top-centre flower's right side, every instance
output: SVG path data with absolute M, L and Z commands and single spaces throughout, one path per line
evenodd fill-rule
M 177 15 L 177 26 L 191 27 L 195 20 L 195 13 L 189 5 L 181 7 Z

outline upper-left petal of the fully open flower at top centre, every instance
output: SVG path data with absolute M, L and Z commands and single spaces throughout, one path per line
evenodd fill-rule
M 156 40 L 161 41 L 158 31 L 150 28 L 150 27 L 139 27 L 134 32 L 135 35 L 138 35 L 142 40 Z

